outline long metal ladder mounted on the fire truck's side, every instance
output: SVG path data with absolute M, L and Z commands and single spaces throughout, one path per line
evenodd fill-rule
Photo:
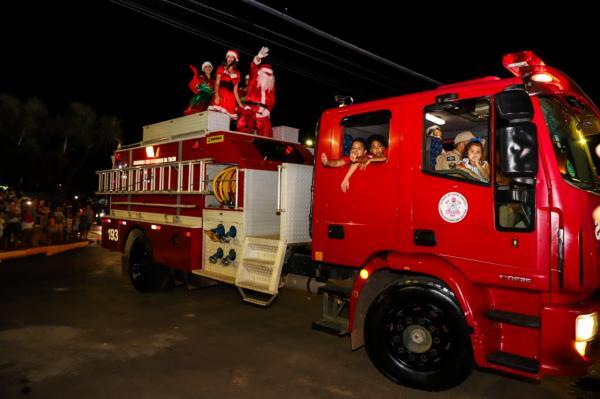
M 206 158 L 101 170 L 96 172 L 96 194 L 211 194 L 206 179 L 211 162 Z

